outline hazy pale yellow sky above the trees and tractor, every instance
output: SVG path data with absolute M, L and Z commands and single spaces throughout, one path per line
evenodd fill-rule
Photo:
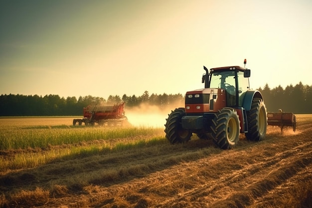
M 185 94 L 244 58 L 312 85 L 312 0 L 0 0 L 0 94 Z

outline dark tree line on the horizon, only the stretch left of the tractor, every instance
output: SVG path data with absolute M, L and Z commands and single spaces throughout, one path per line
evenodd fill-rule
M 141 96 L 110 95 L 107 99 L 91 95 L 76 97 L 60 97 L 59 95 L 1 95 L 0 116 L 80 116 L 88 105 L 114 105 L 125 102 L 127 108 L 140 106 L 142 103 L 165 108 L 173 103 L 183 106 L 182 94 L 152 94 L 145 91 Z

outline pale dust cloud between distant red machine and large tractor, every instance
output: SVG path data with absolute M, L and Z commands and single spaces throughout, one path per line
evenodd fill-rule
M 141 104 L 139 107 L 127 108 L 125 107 L 125 116 L 133 126 L 138 127 L 155 127 L 164 128 L 166 118 L 171 110 L 183 106 L 171 105 L 165 108 L 160 108 L 156 105 Z

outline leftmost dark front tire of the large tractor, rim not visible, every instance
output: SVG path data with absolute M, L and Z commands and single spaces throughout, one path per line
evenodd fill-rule
M 168 114 L 164 132 L 171 144 L 187 142 L 192 136 L 192 132 L 182 128 L 181 120 L 183 116 L 185 116 L 184 108 L 176 108 Z

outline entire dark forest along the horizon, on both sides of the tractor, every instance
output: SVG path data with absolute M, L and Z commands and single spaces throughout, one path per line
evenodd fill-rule
M 279 85 L 270 88 L 266 84 L 259 90 L 263 97 L 268 112 L 282 109 L 295 114 L 312 114 L 312 85 L 303 85 L 302 82 L 295 86 L 288 85 L 285 89 Z M 0 116 L 80 116 L 83 108 L 90 104 L 112 105 L 126 102 L 127 108 L 138 107 L 142 103 L 166 108 L 184 106 L 184 95 L 178 94 L 149 94 L 145 91 L 141 96 L 110 95 L 107 99 L 91 95 L 76 97 L 60 97 L 59 95 L 13 95 L 0 96 Z

